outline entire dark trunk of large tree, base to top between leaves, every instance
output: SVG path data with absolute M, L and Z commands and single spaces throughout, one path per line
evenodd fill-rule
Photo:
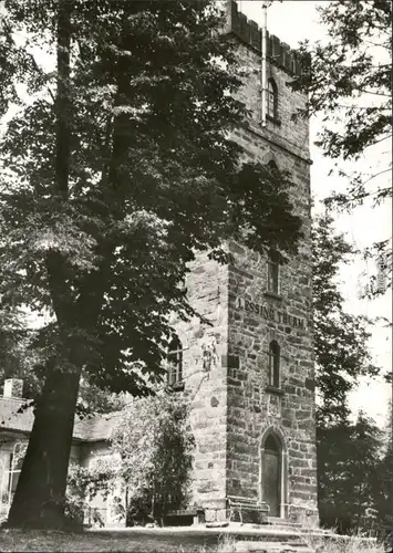
M 56 21 L 58 91 L 54 195 L 68 201 L 70 174 L 70 51 L 72 0 L 60 0 Z M 60 327 L 71 327 L 72 305 L 64 281 L 65 260 L 56 251 L 46 257 L 48 284 Z M 71 307 L 71 311 L 70 311 Z M 64 316 L 68 314 L 69 316 Z M 65 333 L 66 334 L 66 333 Z M 75 348 L 68 348 L 66 357 Z M 48 363 L 45 384 L 38 401 L 35 419 L 22 465 L 13 502 L 10 526 L 59 528 L 64 522 L 66 474 L 72 445 L 74 414 L 81 376 L 81 359 L 71 359 L 72 371 Z M 73 362 L 74 361 L 74 362 Z

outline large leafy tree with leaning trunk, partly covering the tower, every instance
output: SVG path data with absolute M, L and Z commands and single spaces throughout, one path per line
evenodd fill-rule
M 213 0 L 4 8 L 0 298 L 49 315 L 33 342 L 44 384 L 9 523 L 58 525 L 81 373 L 148 393 L 168 314 L 194 314 L 179 283 L 196 252 L 225 260 L 235 238 L 293 253 L 301 222 L 289 178 L 241 161 L 231 139 L 247 114 Z

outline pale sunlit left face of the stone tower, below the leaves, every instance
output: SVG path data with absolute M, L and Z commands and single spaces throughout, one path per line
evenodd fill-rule
M 183 344 L 184 395 L 192 404 L 190 427 L 196 440 L 190 503 L 214 519 L 225 507 L 227 451 L 228 268 L 200 254 L 190 265 L 188 296 L 209 324 L 195 317 L 174 321 Z M 204 351 L 210 363 L 204 364 Z M 224 361 L 224 363 L 223 363 Z

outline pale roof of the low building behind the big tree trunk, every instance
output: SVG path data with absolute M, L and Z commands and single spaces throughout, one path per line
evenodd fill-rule
M 34 413 L 29 399 L 0 397 L 0 432 L 30 434 Z M 73 438 L 77 441 L 108 440 L 121 411 L 80 419 L 75 417 Z

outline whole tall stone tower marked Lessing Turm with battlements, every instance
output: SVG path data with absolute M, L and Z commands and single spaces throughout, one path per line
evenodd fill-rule
M 230 32 L 245 65 L 260 69 L 261 30 L 235 2 Z M 224 517 L 226 499 L 237 495 L 265 501 L 271 517 L 316 523 L 309 124 L 292 121 L 306 103 L 287 85 L 300 71 L 296 53 L 268 34 L 267 54 L 267 124 L 255 71 L 241 91 L 252 118 L 235 134 L 251 159 L 291 174 L 306 238 L 283 267 L 238 243 L 228 246 L 230 265 L 198 257 L 186 284 L 210 325 L 174 321 L 173 383 L 192 400 L 193 494 L 209 517 Z

